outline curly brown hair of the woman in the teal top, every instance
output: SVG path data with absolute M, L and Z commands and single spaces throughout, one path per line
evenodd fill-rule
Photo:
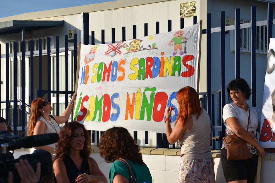
M 101 141 L 98 144 L 100 156 L 107 163 L 112 163 L 118 158 L 128 159 L 134 163 L 144 165 L 140 147 L 135 144 L 133 137 L 126 128 L 113 127 L 106 130 L 101 135 Z

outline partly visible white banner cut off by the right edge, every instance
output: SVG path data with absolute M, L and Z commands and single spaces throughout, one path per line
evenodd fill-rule
M 263 148 L 275 147 L 274 122 L 275 122 L 275 39 L 270 39 L 267 70 L 264 81 L 263 109 L 259 144 Z

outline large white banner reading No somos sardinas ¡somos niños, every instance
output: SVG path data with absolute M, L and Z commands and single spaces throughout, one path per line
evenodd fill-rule
M 164 116 L 184 86 L 197 90 L 200 23 L 174 32 L 81 45 L 74 120 L 89 130 L 112 126 L 165 133 Z

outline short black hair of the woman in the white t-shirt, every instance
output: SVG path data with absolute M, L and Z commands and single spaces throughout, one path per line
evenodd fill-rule
M 227 93 L 228 93 L 229 102 L 233 101 L 230 96 L 230 91 L 236 91 L 236 90 L 240 89 L 243 93 L 246 94 L 245 95 L 246 100 L 249 100 L 250 95 L 251 95 L 251 88 L 243 78 L 238 78 L 238 79 L 234 79 L 234 80 L 230 81 L 230 83 L 228 83 L 226 89 L 227 89 Z

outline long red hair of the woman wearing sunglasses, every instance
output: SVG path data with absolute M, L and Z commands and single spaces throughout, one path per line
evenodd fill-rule
M 43 107 L 43 100 L 44 97 L 38 97 L 32 101 L 30 105 L 30 121 L 29 121 L 29 135 L 33 135 L 33 130 L 36 125 L 36 121 L 40 116 L 40 111 Z M 45 100 L 45 99 L 44 99 Z

